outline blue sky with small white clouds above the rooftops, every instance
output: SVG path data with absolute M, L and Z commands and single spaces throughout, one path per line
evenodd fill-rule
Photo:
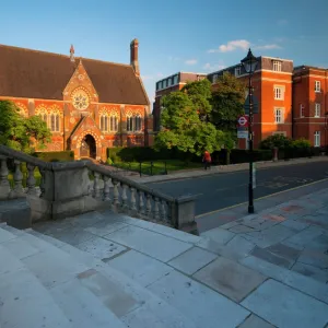
M 141 75 L 211 72 L 256 56 L 328 68 L 327 0 L 20 0 L 1 4 L 0 44 L 129 62 L 139 39 Z

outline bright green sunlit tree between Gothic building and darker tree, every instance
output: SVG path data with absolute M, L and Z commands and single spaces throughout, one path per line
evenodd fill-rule
M 207 96 L 204 97 L 207 83 L 201 82 L 197 82 L 198 85 L 194 84 L 196 82 L 187 84 L 183 91 L 173 92 L 162 98 L 163 129 L 156 136 L 156 149 L 177 148 L 183 152 L 201 155 L 204 150 L 213 152 L 223 144 L 230 144 L 224 132 L 202 120 L 200 110 L 210 114 L 210 105 Z

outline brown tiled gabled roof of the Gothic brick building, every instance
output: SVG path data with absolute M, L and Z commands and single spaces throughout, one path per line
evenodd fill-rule
M 101 103 L 149 105 L 141 80 L 130 65 L 80 59 Z M 74 72 L 69 56 L 0 45 L 0 96 L 62 101 Z

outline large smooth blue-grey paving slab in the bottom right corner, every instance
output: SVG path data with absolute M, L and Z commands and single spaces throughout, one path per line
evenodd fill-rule
M 328 305 L 274 280 L 268 280 L 242 305 L 278 327 L 323 328 Z

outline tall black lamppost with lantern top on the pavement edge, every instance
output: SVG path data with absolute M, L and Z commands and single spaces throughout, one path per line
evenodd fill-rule
M 253 166 L 254 166 L 254 152 L 253 152 L 253 87 L 251 77 L 257 66 L 257 58 L 248 50 L 247 56 L 241 60 L 248 73 L 248 99 L 249 99 L 249 122 L 248 122 L 248 149 L 249 149 L 249 183 L 248 183 L 248 213 L 254 213 L 254 194 L 253 194 Z

